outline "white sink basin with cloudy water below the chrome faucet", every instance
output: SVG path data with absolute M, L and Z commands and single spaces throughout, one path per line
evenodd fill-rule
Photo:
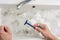
M 33 8 L 35 6 L 35 8 Z M 29 12 L 29 14 L 28 14 Z M 13 40 L 40 40 L 43 37 L 33 28 L 24 25 L 26 19 L 32 18 L 39 12 L 44 19 L 44 23 L 48 25 L 51 32 L 60 37 L 60 6 L 57 5 L 24 5 L 20 9 L 16 7 L 1 8 L 2 24 L 8 25 L 13 33 Z M 27 18 L 24 18 L 27 13 Z M 34 14 L 35 13 L 35 14 Z M 31 16 L 32 15 L 32 16 Z M 42 39 L 43 40 L 43 39 Z

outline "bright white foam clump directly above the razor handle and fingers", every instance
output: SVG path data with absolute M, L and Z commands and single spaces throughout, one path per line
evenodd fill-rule
M 44 23 L 44 19 L 41 18 L 41 15 L 39 12 L 37 12 L 33 18 L 30 20 L 31 24 L 34 25 L 34 24 L 37 24 L 37 23 Z

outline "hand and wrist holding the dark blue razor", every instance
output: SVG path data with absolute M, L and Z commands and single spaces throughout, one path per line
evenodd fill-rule
M 43 28 L 39 28 L 38 26 L 41 26 Z M 57 38 L 50 32 L 47 25 L 45 25 L 45 24 L 40 24 L 40 25 L 35 24 L 34 27 L 35 27 L 35 30 L 40 32 L 45 37 L 46 40 L 57 40 Z

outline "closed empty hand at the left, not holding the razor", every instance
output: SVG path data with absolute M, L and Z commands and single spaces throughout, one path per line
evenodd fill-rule
M 12 40 L 12 34 L 7 26 L 0 27 L 0 40 Z

